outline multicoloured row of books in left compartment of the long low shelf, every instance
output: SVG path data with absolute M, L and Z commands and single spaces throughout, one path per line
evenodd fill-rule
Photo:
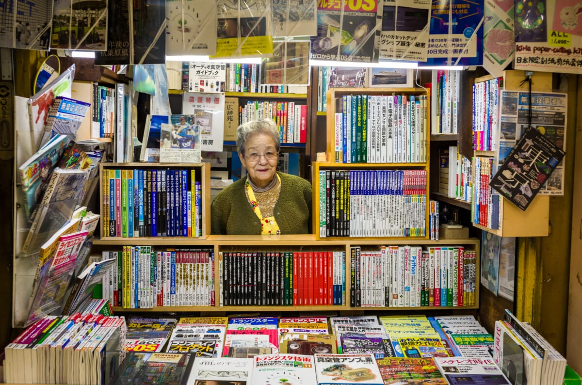
M 123 246 L 104 251 L 114 259 L 103 276 L 103 298 L 113 306 L 149 309 L 157 306 L 214 305 L 214 251 Z

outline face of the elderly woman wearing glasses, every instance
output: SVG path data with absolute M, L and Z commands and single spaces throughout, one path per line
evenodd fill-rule
M 250 179 L 257 187 L 267 186 L 277 170 L 278 156 L 276 154 L 275 140 L 268 134 L 257 133 L 249 138 L 244 144 L 245 153 L 239 154 L 240 162 L 247 169 Z M 258 159 L 251 159 L 258 154 Z M 272 159 L 267 159 L 268 155 L 275 155 Z

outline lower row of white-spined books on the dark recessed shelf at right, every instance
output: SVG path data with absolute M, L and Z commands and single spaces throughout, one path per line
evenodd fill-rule
M 460 154 L 457 146 L 439 151 L 439 193 L 465 202 L 473 198 L 471 161 Z

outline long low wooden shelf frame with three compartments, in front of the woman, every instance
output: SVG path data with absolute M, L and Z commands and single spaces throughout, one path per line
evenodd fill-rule
M 169 241 L 169 240 L 168 240 Z M 111 245 L 115 248 L 121 242 L 116 240 L 115 243 L 105 243 L 103 240 L 95 241 L 95 245 Z M 143 243 L 140 240 L 140 244 Z M 126 241 L 124 244 L 134 244 L 133 241 Z M 150 245 L 171 245 L 178 248 L 177 245 L 187 247 L 209 247 L 214 250 L 214 306 L 155 306 L 153 308 L 145 309 L 127 309 L 122 306 L 113 306 L 114 312 L 240 312 L 240 311 L 257 311 L 261 312 L 292 312 L 292 311 L 364 311 L 364 310 L 389 310 L 389 311 L 411 311 L 411 310 L 466 310 L 478 309 L 479 307 L 479 284 L 480 277 L 480 241 L 477 238 L 455 239 L 455 240 L 440 240 L 432 241 L 428 239 L 416 240 L 371 240 L 371 239 L 349 239 L 349 240 L 318 240 L 311 234 L 290 234 L 279 236 L 219 236 L 210 235 L 203 240 L 176 240 L 169 244 L 166 240 L 152 241 Z M 380 245 L 416 245 L 420 247 L 443 246 L 450 245 L 453 247 L 463 246 L 466 249 L 474 249 L 476 253 L 475 261 L 475 302 L 473 305 L 464 306 L 350 306 L 350 248 L 360 246 L 363 249 L 378 249 Z M 222 259 L 220 258 L 222 252 L 232 251 L 343 251 L 345 252 L 345 271 L 343 272 L 343 279 L 345 279 L 345 304 L 343 305 L 229 305 L 221 306 L 219 300 L 219 293 L 221 293 L 221 272 L 223 269 Z

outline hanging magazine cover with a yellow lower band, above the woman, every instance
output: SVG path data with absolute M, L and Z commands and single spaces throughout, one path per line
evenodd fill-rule
M 218 0 L 217 16 L 217 52 L 212 58 L 260 58 L 272 54 L 271 2 Z

